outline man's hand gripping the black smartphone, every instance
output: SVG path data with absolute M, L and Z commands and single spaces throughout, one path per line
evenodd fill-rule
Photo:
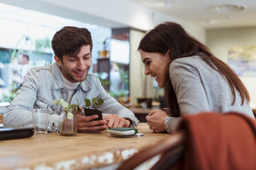
M 102 132 L 103 130 L 107 129 L 107 121 L 100 120 L 94 121 L 97 119 L 98 115 L 94 114 L 92 116 L 82 116 L 77 114 L 77 130 L 78 132 Z

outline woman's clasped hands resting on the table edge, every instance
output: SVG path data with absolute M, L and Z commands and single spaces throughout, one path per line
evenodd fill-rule
M 149 129 L 153 130 L 153 132 L 166 132 L 164 124 L 164 119 L 166 117 L 168 117 L 167 113 L 163 110 L 151 110 L 151 112 L 149 112 L 149 114 L 146 117 Z

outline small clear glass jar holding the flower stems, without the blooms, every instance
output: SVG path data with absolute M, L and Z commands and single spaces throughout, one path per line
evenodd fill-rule
M 75 109 L 70 109 L 66 112 L 64 108 L 61 109 L 61 136 L 76 136 L 77 134 L 77 115 Z

